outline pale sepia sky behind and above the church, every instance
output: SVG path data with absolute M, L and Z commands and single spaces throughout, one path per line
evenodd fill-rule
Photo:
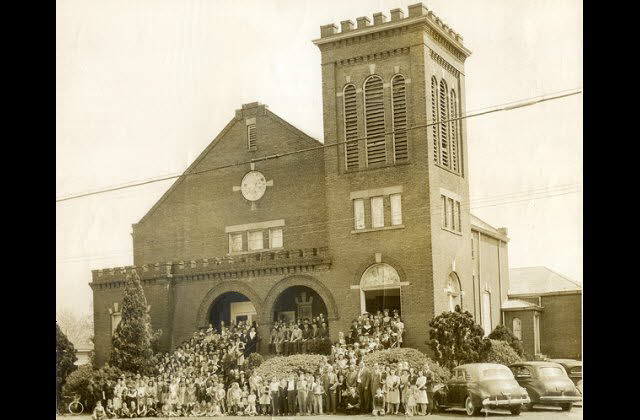
M 178 175 L 259 101 L 320 141 L 320 26 L 399 0 L 58 0 L 56 196 Z M 579 0 L 423 2 L 464 37 L 472 111 L 582 86 Z M 582 281 L 582 95 L 467 120 L 472 213 L 509 265 Z M 56 205 L 56 307 L 91 310 L 91 270 L 133 263 L 131 225 L 173 181 Z M 476 203 L 474 208 L 474 203 Z

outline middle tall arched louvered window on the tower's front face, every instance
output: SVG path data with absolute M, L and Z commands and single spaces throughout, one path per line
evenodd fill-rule
M 387 151 L 384 128 L 384 100 L 382 78 L 370 76 L 364 82 L 364 128 L 367 165 L 386 163 Z

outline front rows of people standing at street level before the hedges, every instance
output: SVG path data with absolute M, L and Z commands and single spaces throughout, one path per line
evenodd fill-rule
M 398 374 L 399 373 L 399 374 Z M 113 397 L 98 401 L 94 419 L 134 417 L 303 416 L 337 414 L 427 415 L 431 412 L 431 372 L 406 362 L 360 362 L 335 369 L 330 358 L 315 374 L 251 375 L 225 387 L 217 376 L 184 378 L 170 375 L 169 385 L 136 376 L 119 378 Z M 148 382 L 146 382 L 148 381 Z M 146 386 L 144 385 L 146 383 Z

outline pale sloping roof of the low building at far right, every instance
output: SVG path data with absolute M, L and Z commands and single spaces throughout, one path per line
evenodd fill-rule
M 582 292 L 582 284 L 547 267 L 521 267 L 509 270 L 509 297 L 576 292 Z

